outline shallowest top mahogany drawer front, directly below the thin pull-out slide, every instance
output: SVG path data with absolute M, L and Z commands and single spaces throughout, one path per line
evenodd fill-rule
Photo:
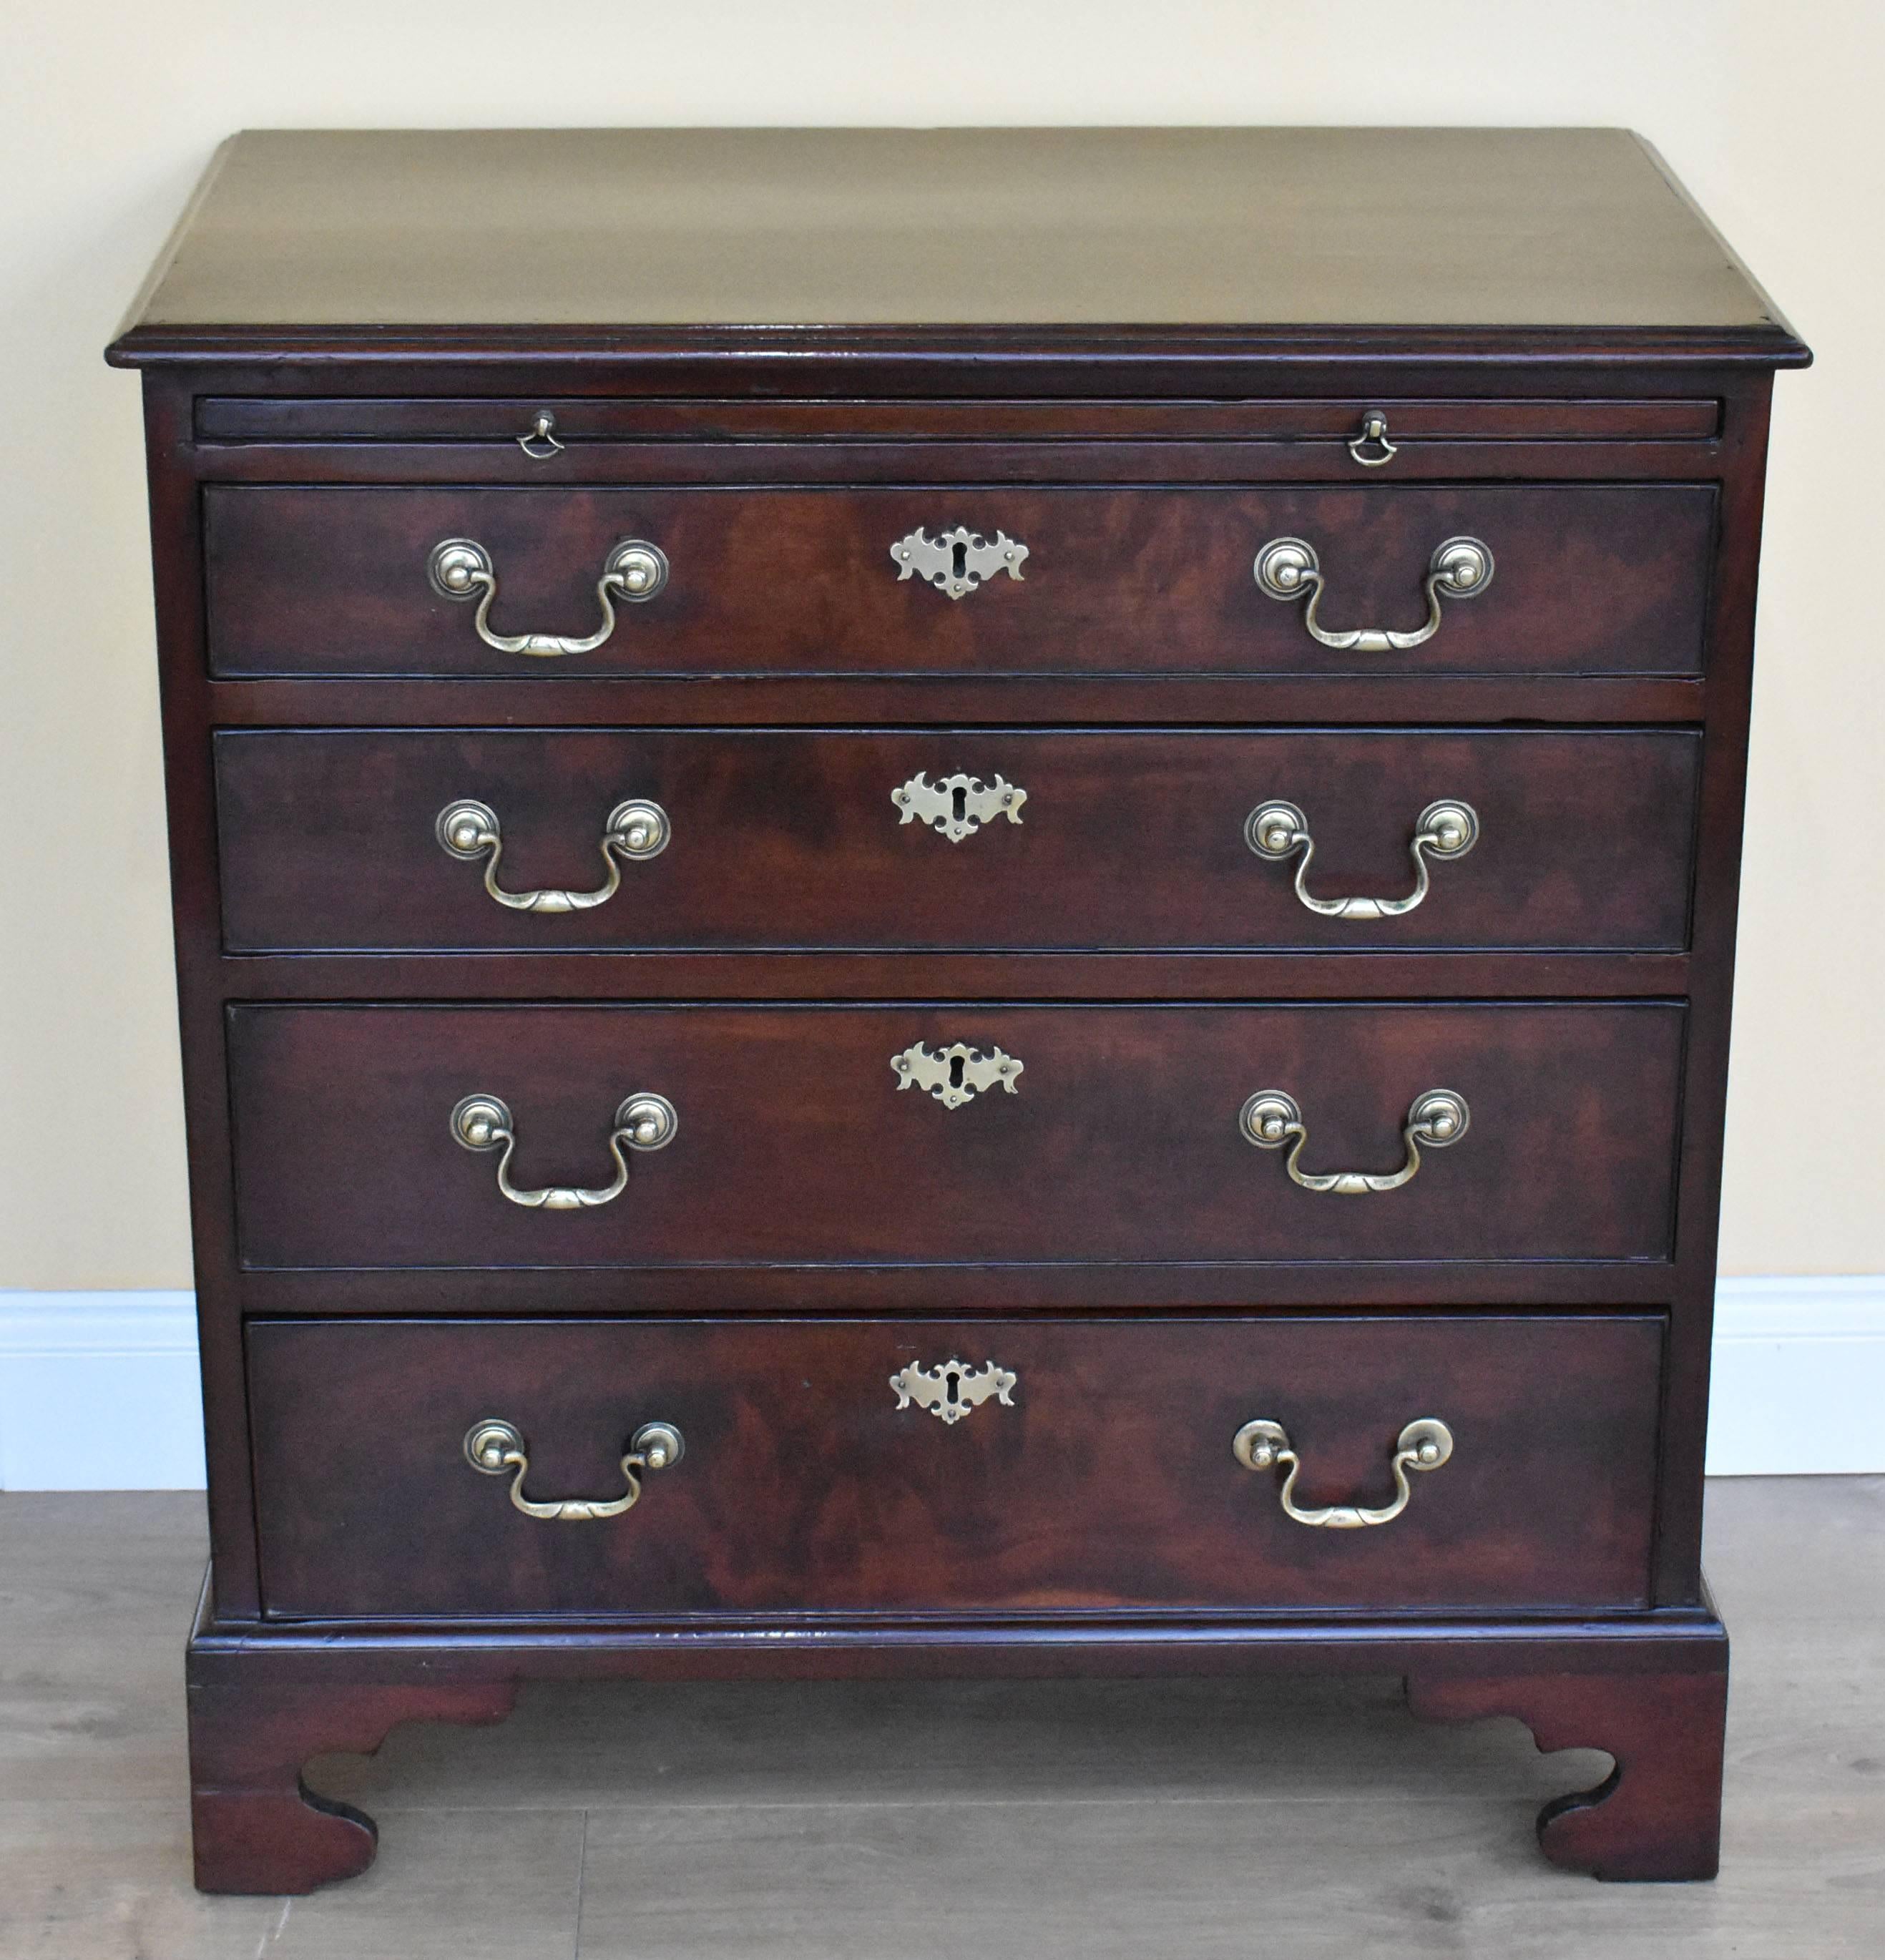
M 204 521 L 219 674 L 1693 674 L 1715 490 L 223 484 Z M 937 545 L 958 527 L 972 537 Z M 1007 543 L 982 557 L 974 537 Z M 1491 578 L 1430 606 L 1436 551 L 1460 537 Z M 658 547 L 666 582 L 639 602 L 615 588 L 613 629 L 555 657 L 490 645 L 486 586 L 460 576 L 449 598 L 427 570 L 441 543 L 470 541 L 496 590 L 486 633 L 590 641 L 625 539 Z M 1311 547 L 1336 645 L 1309 631 L 1305 559 L 1272 566 L 1281 596 L 1260 590 L 1280 539 Z M 974 590 L 952 598 L 925 566 Z M 1340 645 L 1430 623 L 1419 645 Z

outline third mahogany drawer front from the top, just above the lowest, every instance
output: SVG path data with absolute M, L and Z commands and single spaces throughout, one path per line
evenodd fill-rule
M 239 1245 L 257 1268 L 1666 1258 L 1681 1043 L 1664 1002 L 233 1007 Z M 1468 1117 L 1444 1151 L 1413 1123 L 1434 1090 Z M 1252 1145 L 1258 1092 L 1305 1135 L 1272 1103 Z M 678 1127 L 635 1149 L 668 1127 L 649 1096 Z M 1360 1196 L 1289 1176 L 1415 1156 Z

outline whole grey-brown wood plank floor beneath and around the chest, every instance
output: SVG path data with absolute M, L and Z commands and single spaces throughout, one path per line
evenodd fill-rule
M 0 1956 L 1879 1960 L 1885 1478 L 1716 1484 L 1734 1633 L 1713 1886 L 1546 1866 L 1605 1760 L 1393 1684 L 527 1691 L 312 1782 L 380 1821 L 310 1899 L 190 1889 L 192 1495 L 0 1497 Z

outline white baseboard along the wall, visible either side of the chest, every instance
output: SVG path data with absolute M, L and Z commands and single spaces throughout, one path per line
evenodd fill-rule
M 1885 1274 L 1722 1280 L 1715 1476 L 1885 1470 Z M 0 1292 L 0 1490 L 200 1490 L 190 1294 Z

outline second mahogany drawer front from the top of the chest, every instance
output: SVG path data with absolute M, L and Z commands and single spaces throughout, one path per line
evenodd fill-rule
M 1673 949 L 1699 760 L 1681 729 L 223 731 L 223 933 L 235 951 Z M 658 855 L 604 845 L 637 800 Z M 1295 890 L 1303 845 L 1250 849 L 1268 804 L 1303 815 L 1323 909 Z M 1477 819 L 1464 853 L 1413 851 L 1436 804 Z M 441 843 L 466 806 L 496 872 L 492 845 Z

